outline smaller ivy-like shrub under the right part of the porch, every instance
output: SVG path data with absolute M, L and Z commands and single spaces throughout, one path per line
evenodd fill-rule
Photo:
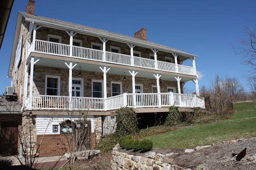
M 180 123 L 182 120 L 182 115 L 180 113 L 180 111 L 178 110 L 178 107 L 176 106 L 170 106 L 169 107 L 169 114 L 166 117 L 166 121 L 164 123 L 164 125 L 166 126 L 174 126 L 177 125 L 178 123 Z

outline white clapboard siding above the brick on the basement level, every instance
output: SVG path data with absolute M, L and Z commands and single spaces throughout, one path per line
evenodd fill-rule
M 87 120 L 91 121 L 91 132 L 94 132 L 94 117 L 88 116 Z M 36 117 L 36 134 L 60 134 L 60 123 L 70 120 L 69 116 L 54 116 L 54 115 L 37 115 Z M 78 116 L 73 116 L 72 121 L 78 121 Z M 58 133 L 52 132 L 52 125 L 58 126 Z

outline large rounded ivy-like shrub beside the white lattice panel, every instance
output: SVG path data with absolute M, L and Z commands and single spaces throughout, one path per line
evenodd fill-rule
M 134 109 L 121 107 L 116 115 L 116 134 L 125 136 L 138 132 L 138 119 Z

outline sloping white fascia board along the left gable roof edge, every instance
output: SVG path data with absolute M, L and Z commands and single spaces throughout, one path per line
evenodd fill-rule
M 15 34 L 14 34 L 14 39 L 13 39 L 13 43 L 12 43 L 12 53 L 11 53 L 8 76 L 7 76 L 7 77 L 10 77 L 10 78 L 12 78 L 12 72 L 10 72 L 10 71 L 12 70 L 12 67 L 14 66 L 14 59 L 15 59 L 15 55 L 16 55 L 16 49 L 17 49 L 18 40 L 19 40 L 19 36 L 20 36 L 21 22 L 22 22 L 22 15 L 18 12 Z

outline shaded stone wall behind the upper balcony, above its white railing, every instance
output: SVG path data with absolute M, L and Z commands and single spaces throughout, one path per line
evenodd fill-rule
M 51 34 L 54 36 L 61 36 L 62 37 L 61 43 L 64 43 L 64 44 L 70 43 L 70 36 L 64 30 L 57 30 L 54 28 L 46 28 L 46 27 L 42 27 L 36 31 L 36 39 L 47 41 L 48 34 Z M 98 37 L 88 36 L 84 34 L 76 34 L 73 37 L 73 39 L 82 40 L 82 47 L 86 47 L 86 48 L 91 48 L 92 42 L 102 44 L 101 40 Z M 110 51 L 110 46 L 120 47 L 120 53 L 130 55 L 130 47 L 126 43 L 109 40 L 108 42 L 106 42 L 106 51 Z M 154 53 L 150 48 L 135 46 L 133 50 L 141 52 L 141 57 L 143 58 L 150 58 L 149 57 L 150 54 L 154 55 Z M 172 62 L 174 63 L 174 56 L 172 55 L 172 53 L 158 51 L 157 56 L 158 56 L 157 59 L 159 61 L 165 61 L 165 57 L 171 57 Z M 180 63 L 179 57 L 177 59 L 179 64 Z

